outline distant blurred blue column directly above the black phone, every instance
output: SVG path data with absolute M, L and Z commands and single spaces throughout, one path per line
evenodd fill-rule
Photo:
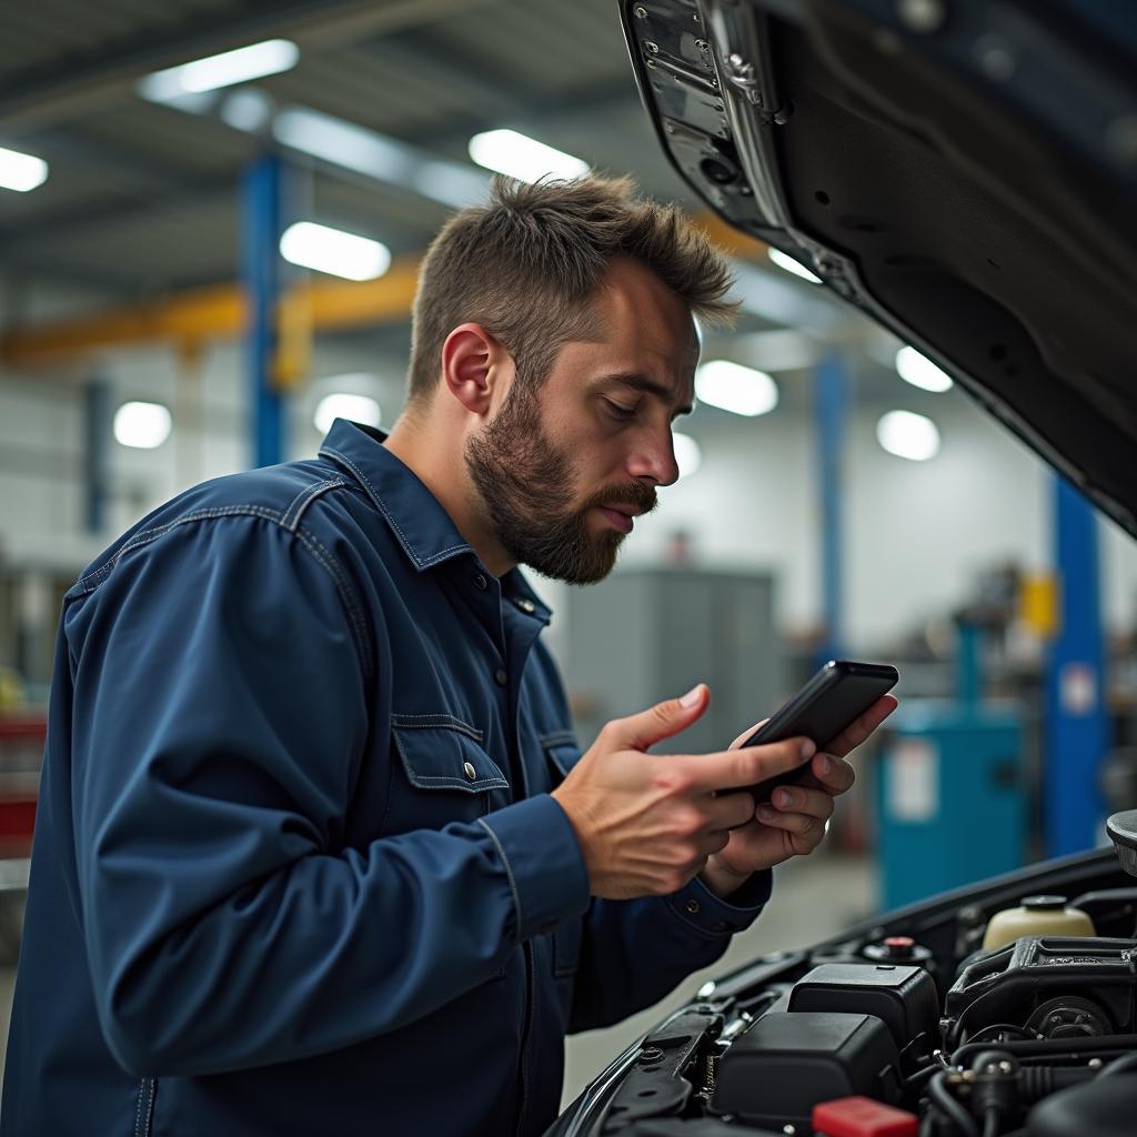
M 848 409 L 848 376 L 839 355 L 830 355 L 818 367 L 814 414 L 818 438 L 818 474 L 821 491 L 821 596 L 825 640 L 819 664 L 839 659 L 845 642 L 843 603 L 845 563 L 841 479 L 845 467 L 845 420 Z

